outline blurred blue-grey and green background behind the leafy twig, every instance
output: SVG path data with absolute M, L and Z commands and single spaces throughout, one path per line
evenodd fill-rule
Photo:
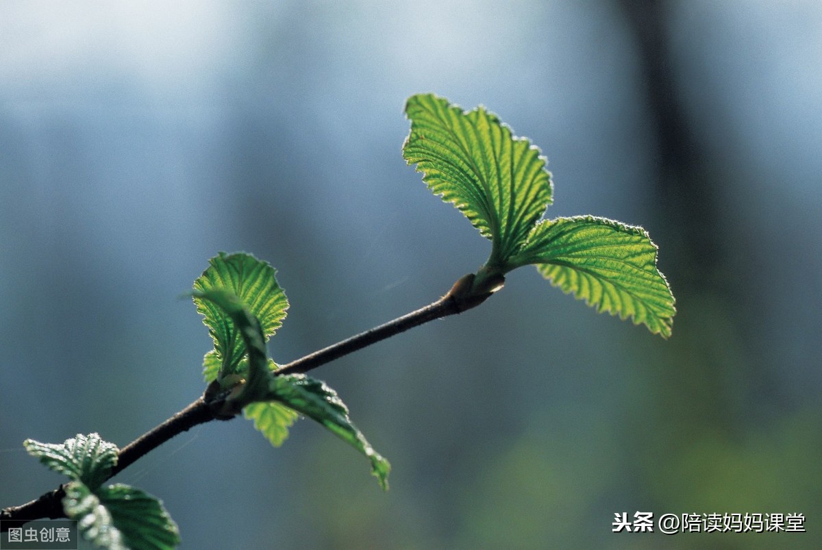
M 0 506 L 23 451 L 126 445 L 203 390 L 180 294 L 270 261 L 294 358 L 490 252 L 405 165 L 404 99 L 485 104 L 549 159 L 547 215 L 648 229 L 673 335 L 518 270 L 483 307 L 312 374 L 391 461 L 301 421 L 209 423 L 115 481 L 182 548 L 818 548 L 819 2 L 2 2 Z M 807 532 L 612 533 L 617 512 L 801 513 Z

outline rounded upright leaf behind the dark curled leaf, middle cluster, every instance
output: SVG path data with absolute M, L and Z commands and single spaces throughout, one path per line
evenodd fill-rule
M 194 281 L 194 290 L 201 293 L 214 289 L 223 289 L 233 293 L 247 308 L 253 317 L 260 322 L 264 340 L 268 340 L 282 325 L 289 301 L 275 277 L 277 271 L 267 262 L 257 260 L 250 254 L 237 252 L 226 254 L 220 252 L 209 261 L 210 266 Z M 214 353 L 204 360 L 205 381 L 214 381 L 218 377 L 238 374 L 238 368 L 245 347 L 242 335 L 234 326 L 229 314 L 210 300 L 195 295 L 197 311 L 204 318 L 203 323 L 209 328 L 214 340 Z M 215 361 L 219 367 L 215 369 Z

